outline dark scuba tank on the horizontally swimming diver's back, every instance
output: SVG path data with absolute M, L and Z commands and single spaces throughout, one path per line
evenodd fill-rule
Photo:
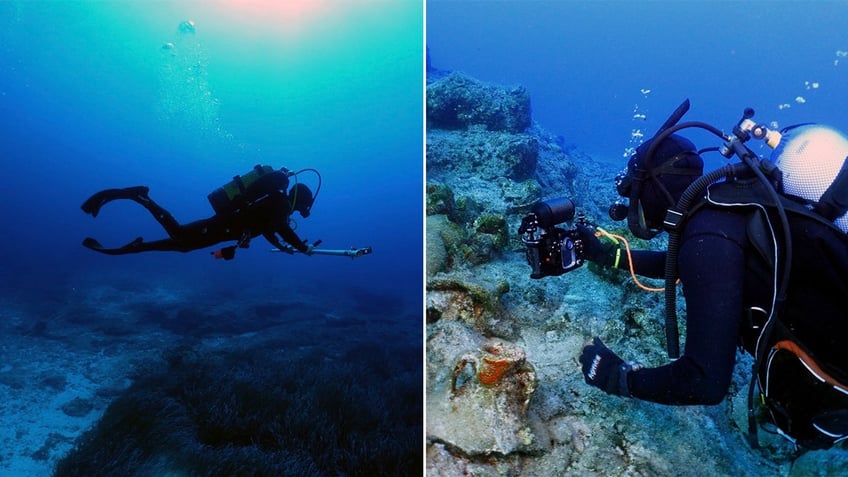
M 207 198 L 217 214 L 232 213 L 268 194 L 270 189 L 286 190 L 288 176 L 271 166 L 253 166 L 244 174 L 213 190 Z

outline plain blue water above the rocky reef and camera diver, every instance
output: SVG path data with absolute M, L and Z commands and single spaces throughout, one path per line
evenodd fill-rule
M 434 66 L 525 86 L 542 127 L 618 162 L 687 97 L 686 120 L 724 131 L 746 107 L 848 128 L 846 19 L 844 2 L 430 0 L 426 29 Z

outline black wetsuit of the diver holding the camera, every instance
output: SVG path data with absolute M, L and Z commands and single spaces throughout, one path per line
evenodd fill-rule
M 833 229 L 793 222 L 793 256 L 785 315 L 792 331 L 820 359 L 848 369 L 848 247 L 825 246 Z M 771 308 L 770 270 L 747 237 L 748 216 L 704 208 L 681 236 L 678 270 L 686 298 L 686 344 L 680 359 L 628 375 L 633 397 L 663 404 L 718 404 L 733 374 L 744 310 Z M 830 242 L 833 243 L 833 242 Z M 665 252 L 634 252 L 637 273 L 662 277 Z M 748 349 L 750 352 L 751 349 Z

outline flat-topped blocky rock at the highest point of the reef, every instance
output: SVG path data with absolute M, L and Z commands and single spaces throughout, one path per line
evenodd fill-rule
M 427 127 L 518 133 L 530 127 L 530 95 L 522 86 L 503 88 L 452 73 L 427 85 Z

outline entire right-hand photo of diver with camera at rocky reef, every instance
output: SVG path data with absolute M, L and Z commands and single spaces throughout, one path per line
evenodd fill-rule
M 427 475 L 848 474 L 845 47 L 728 6 L 427 3 Z

